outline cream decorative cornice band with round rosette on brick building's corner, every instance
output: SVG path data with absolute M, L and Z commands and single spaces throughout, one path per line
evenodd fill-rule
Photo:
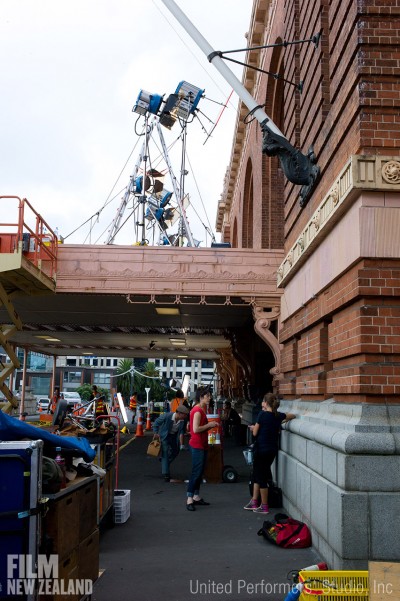
M 279 266 L 278 287 L 284 287 L 305 263 L 307 257 L 333 229 L 340 215 L 351 206 L 355 194 L 359 194 L 360 190 L 399 191 L 398 158 L 366 155 L 350 157 Z

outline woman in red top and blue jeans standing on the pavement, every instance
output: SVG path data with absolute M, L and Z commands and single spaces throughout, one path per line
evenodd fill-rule
M 195 511 L 195 505 L 209 505 L 200 497 L 200 484 L 203 479 L 207 459 L 208 430 L 218 426 L 217 422 L 208 422 L 206 408 L 211 400 L 207 387 L 196 390 L 196 404 L 190 412 L 190 450 L 192 453 L 192 473 L 187 487 L 186 509 Z

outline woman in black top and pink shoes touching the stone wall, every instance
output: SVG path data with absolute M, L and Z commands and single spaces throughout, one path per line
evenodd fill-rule
M 249 426 L 256 441 L 253 459 L 253 497 L 244 509 L 255 513 L 269 513 L 268 483 L 272 480 L 271 465 L 278 453 L 281 425 L 296 416 L 293 413 L 278 411 L 279 400 L 268 393 L 262 401 L 262 411 L 256 424 Z M 261 505 L 258 502 L 261 494 Z

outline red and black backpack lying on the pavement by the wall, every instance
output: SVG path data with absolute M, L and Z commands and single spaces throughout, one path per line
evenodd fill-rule
M 257 534 L 284 549 L 311 547 L 311 532 L 307 524 L 283 513 L 278 513 L 274 522 L 265 521 Z

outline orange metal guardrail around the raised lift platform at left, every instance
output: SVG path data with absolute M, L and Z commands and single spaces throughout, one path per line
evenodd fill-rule
M 8 251 L 16 252 L 21 248 L 26 259 L 40 271 L 55 279 L 58 253 L 57 234 L 26 198 L 0 196 L 0 201 L 4 199 L 18 201 L 18 221 L 0 222 L 0 237 L 2 235 L 13 237 L 14 246 L 10 246 Z M 2 209 L 1 214 L 6 214 L 6 211 Z M 14 230 L 7 232 L 4 228 L 14 228 Z M 0 248 L 0 254 L 2 252 L 4 251 Z

